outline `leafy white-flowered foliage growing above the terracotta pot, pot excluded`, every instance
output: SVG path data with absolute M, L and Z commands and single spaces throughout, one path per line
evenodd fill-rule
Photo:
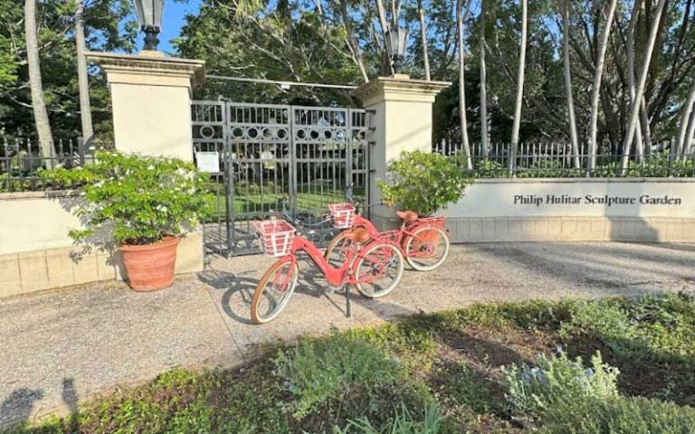
M 42 171 L 44 179 L 77 186 L 84 205 L 73 212 L 87 229 L 71 231 L 77 241 L 148 244 L 194 228 L 211 210 L 205 174 L 175 158 L 100 151 L 93 164 Z M 94 239 L 94 237 L 100 237 Z

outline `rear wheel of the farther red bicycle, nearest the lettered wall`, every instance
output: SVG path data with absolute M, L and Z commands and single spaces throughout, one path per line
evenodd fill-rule
M 435 226 L 424 226 L 405 240 L 405 261 L 418 271 L 432 271 L 449 256 L 449 236 Z

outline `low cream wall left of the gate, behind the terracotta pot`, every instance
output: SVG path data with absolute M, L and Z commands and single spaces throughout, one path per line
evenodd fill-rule
M 0 193 L 0 297 L 123 278 L 119 254 L 85 250 L 68 231 L 81 228 L 70 210 L 79 198 L 62 192 Z M 203 269 L 202 231 L 178 246 L 176 273 Z

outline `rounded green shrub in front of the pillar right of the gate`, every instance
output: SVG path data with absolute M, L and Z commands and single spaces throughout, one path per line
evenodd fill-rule
M 451 159 L 422 151 L 401 153 L 389 163 L 386 176 L 388 182 L 378 182 L 384 201 L 421 215 L 455 203 L 471 184 Z

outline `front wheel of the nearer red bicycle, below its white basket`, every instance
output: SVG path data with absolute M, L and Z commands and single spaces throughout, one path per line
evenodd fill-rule
M 255 324 L 271 321 L 287 306 L 300 275 L 297 263 L 278 260 L 265 272 L 253 292 L 251 318 Z

